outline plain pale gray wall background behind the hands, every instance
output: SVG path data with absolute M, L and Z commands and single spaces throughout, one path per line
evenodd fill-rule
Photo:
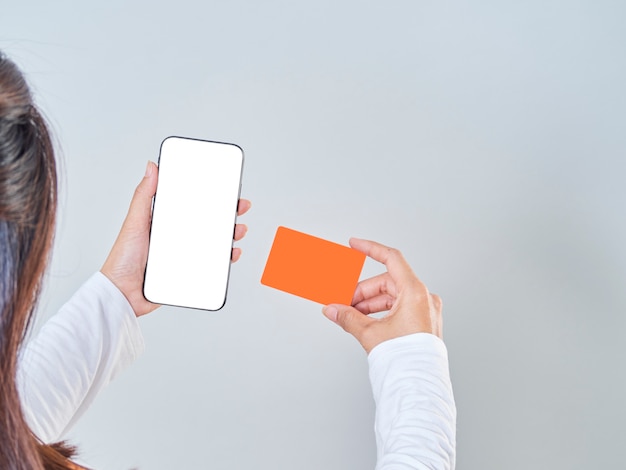
M 61 149 L 44 314 L 164 137 L 246 150 L 227 306 L 142 319 L 145 355 L 69 436 L 85 461 L 373 468 L 365 354 L 260 285 L 287 225 L 396 246 L 443 297 L 458 468 L 624 465 L 624 24 L 609 0 L 4 2 Z

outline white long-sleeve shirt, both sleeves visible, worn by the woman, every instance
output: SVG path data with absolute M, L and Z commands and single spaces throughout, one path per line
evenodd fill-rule
M 74 425 L 97 394 L 143 351 L 124 295 L 94 274 L 24 349 L 18 386 L 43 442 Z M 454 469 L 456 408 L 443 342 L 419 333 L 369 354 L 376 402 L 376 470 Z

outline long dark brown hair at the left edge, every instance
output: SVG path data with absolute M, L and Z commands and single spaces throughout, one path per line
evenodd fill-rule
M 48 264 L 57 207 L 50 133 L 26 81 L 0 51 L 0 468 L 80 468 L 64 444 L 43 445 L 22 413 L 19 349 Z

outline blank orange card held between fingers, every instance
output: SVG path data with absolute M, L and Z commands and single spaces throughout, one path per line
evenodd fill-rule
M 360 251 L 278 227 L 261 284 L 324 305 L 350 305 L 364 262 Z

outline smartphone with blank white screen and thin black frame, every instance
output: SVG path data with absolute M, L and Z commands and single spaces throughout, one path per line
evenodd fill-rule
M 186 137 L 161 143 L 144 296 L 202 310 L 226 303 L 243 150 Z

